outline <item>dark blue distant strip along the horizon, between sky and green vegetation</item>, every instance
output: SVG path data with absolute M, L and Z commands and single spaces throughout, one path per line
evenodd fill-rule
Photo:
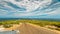
M 1 20 L 48 20 L 48 21 L 60 21 L 60 19 L 50 19 L 50 18 L 0 18 Z

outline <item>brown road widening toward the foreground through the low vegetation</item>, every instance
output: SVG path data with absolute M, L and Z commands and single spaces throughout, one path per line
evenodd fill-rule
M 18 27 L 20 34 L 58 34 L 56 32 L 45 30 L 42 28 L 37 28 L 33 25 L 23 23 L 20 27 Z

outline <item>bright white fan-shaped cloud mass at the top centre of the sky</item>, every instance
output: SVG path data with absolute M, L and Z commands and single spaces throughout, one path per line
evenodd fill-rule
M 19 7 L 24 6 L 27 9 L 26 12 L 30 12 L 30 11 L 36 10 L 38 7 L 44 7 L 46 4 L 47 5 L 50 4 L 52 2 L 52 0 L 44 0 L 44 1 L 41 1 L 41 2 L 39 2 L 39 1 L 30 2 L 28 0 L 23 0 L 21 2 L 16 2 L 15 0 L 9 0 L 9 2 L 12 2 L 13 4 L 16 4 Z

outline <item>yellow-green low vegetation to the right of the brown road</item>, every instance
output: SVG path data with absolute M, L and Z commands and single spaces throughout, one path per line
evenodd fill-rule
M 55 29 L 60 31 L 60 21 L 52 20 L 20 20 L 22 23 L 32 23 L 42 27 L 47 27 L 50 29 Z

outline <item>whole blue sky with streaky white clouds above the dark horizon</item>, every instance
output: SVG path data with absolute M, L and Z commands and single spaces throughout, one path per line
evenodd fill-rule
M 0 0 L 0 18 L 60 19 L 60 0 Z

